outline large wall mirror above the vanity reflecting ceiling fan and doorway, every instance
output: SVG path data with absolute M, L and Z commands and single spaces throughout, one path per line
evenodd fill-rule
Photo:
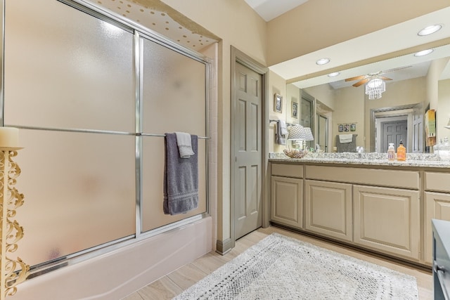
M 386 152 L 387 142 L 394 141 L 397 147 L 399 139 L 407 152 L 430 152 L 425 145 L 423 119 L 428 109 L 436 112 L 437 142 L 450 137 L 446 129 L 450 118 L 449 58 L 450 45 L 444 45 L 433 48 L 427 56 L 410 53 L 342 70 L 338 77 L 311 77 L 289 83 L 287 98 L 314 103 L 309 112 L 303 112 L 300 105 L 300 115 L 309 117 L 314 143 L 326 152 L 338 151 L 341 134 L 352 134 L 354 145 L 366 152 Z M 383 77 L 385 91 L 381 98 L 371 100 L 366 95 L 370 79 L 360 81 L 373 74 Z

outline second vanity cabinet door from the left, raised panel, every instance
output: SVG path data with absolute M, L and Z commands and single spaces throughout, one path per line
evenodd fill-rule
M 352 241 L 352 185 L 305 181 L 305 229 Z

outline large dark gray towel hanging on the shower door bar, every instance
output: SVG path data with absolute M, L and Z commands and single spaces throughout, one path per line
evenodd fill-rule
M 194 155 L 181 158 L 176 134 L 166 133 L 164 164 L 164 202 L 165 214 L 184 214 L 198 207 L 198 138 L 191 135 Z

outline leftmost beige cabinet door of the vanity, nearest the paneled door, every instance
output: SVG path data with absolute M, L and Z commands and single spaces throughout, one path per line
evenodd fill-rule
M 303 180 L 271 176 L 271 221 L 302 228 Z

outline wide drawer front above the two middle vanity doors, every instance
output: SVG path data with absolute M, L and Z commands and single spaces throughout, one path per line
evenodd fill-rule
M 307 166 L 305 175 L 308 179 L 382 185 L 393 188 L 418 190 L 420 186 L 418 171 Z

